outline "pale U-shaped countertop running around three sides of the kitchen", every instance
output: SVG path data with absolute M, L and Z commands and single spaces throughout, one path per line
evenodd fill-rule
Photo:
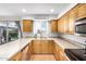
M 63 49 L 82 49 L 83 46 L 77 46 L 67 42 L 60 38 L 21 38 L 15 41 L 11 41 L 0 46 L 0 61 L 8 61 L 15 53 L 21 51 L 26 44 L 32 40 L 53 40 L 56 43 L 60 44 Z

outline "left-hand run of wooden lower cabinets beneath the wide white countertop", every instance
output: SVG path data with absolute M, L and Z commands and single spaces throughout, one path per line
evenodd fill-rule
M 28 43 L 26 47 L 24 47 L 20 52 L 17 52 L 15 55 L 13 55 L 10 61 L 28 61 L 32 56 L 32 43 Z

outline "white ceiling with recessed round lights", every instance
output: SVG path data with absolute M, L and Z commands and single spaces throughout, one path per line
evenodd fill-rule
M 71 5 L 74 3 L 0 3 L 0 16 L 33 16 L 44 20 L 58 17 Z

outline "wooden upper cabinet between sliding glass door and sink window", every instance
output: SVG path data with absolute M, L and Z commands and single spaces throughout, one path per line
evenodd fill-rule
M 33 21 L 32 20 L 23 20 L 23 31 L 24 33 L 33 31 Z

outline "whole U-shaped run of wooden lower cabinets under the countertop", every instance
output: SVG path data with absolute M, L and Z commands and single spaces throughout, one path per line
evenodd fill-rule
M 70 61 L 64 53 L 64 49 L 62 49 L 62 47 L 53 40 L 33 40 L 20 52 L 13 55 L 10 61 L 29 61 L 32 54 L 34 53 L 51 53 L 54 55 L 57 61 Z

